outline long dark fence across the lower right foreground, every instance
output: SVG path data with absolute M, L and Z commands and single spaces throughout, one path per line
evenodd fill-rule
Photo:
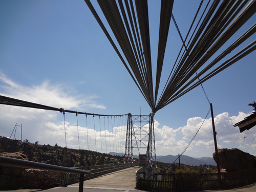
M 218 190 L 256 182 L 256 169 L 220 174 L 154 174 L 153 180 L 146 180 L 142 171 L 136 172 L 136 188 L 146 191 Z

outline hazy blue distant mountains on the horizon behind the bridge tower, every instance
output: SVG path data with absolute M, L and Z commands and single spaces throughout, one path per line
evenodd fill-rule
M 117 156 L 124 156 L 124 153 L 115 153 L 115 152 L 110 152 L 110 155 L 117 155 Z M 134 158 L 139 158 L 138 155 L 133 155 Z M 157 161 L 163 162 L 163 163 L 173 163 L 176 159 L 176 163 L 179 163 L 178 160 L 178 155 L 166 155 L 166 156 L 157 156 L 156 157 Z M 180 157 L 180 163 L 185 164 L 185 165 L 191 165 L 191 166 L 198 166 L 198 165 L 214 165 L 217 166 L 214 158 L 212 157 L 200 157 L 200 158 L 193 158 L 189 157 L 186 155 L 182 155 Z

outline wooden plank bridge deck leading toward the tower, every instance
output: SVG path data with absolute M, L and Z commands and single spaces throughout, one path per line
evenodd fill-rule
M 117 172 L 106 174 L 103 176 L 89 179 L 83 182 L 84 187 L 99 187 L 99 188 L 122 188 L 122 189 L 134 189 L 136 186 L 135 172 L 139 167 L 130 167 Z M 79 183 L 75 183 L 70 186 L 79 186 Z

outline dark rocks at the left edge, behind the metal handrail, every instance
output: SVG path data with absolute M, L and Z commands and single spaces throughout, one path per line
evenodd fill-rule
M 28 160 L 22 153 L 1 153 L 0 156 Z M 22 185 L 22 174 L 25 168 L 0 166 L 0 189 L 17 189 Z

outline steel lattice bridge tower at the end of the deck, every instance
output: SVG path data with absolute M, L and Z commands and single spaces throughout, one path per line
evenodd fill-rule
M 128 114 L 124 153 L 124 158 L 126 158 L 125 160 L 133 159 L 134 149 L 138 154 L 146 154 L 147 161 L 151 161 L 152 165 L 155 166 L 156 148 L 154 132 L 154 114 Z

